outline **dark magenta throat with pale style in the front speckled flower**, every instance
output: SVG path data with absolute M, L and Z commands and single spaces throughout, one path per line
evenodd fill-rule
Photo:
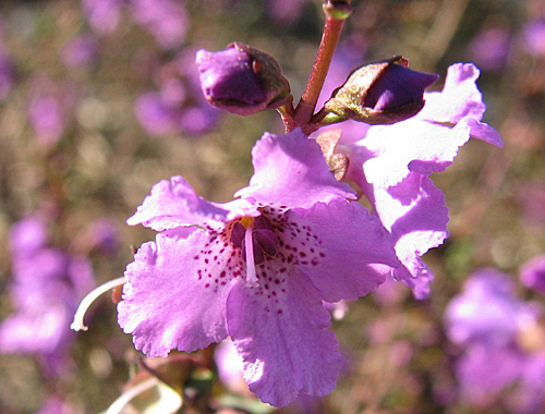
M 231 242 L 242 249 L 242 259 L 246 263 L 246 282 L 257 285 L 255 266 L 265 261 L 265 257 L 275 257 L 278 253 L 278 238 L 272 224 L 265 216 L 243 217 L 231 229 Z

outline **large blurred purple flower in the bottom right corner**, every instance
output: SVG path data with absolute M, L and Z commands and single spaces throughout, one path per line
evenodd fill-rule
M 482 269 L 447 306 L 447 336 L 462 349 L 456 362 L 460 395 L 472 405 L 507 405 L 513 413 L 544 409 L 542 309 L 514 295 L 508 275 Z

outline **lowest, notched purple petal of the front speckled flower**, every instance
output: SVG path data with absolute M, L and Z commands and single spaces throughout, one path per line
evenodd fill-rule
M 336 386 L 340 354 L 319 292 L 300 271 L 277 295 L 237 283 L 227 301 L 228 329 L 244 361 L 244 379 L 264 402 L 284 406 L 300 392 L 325 395 Z

